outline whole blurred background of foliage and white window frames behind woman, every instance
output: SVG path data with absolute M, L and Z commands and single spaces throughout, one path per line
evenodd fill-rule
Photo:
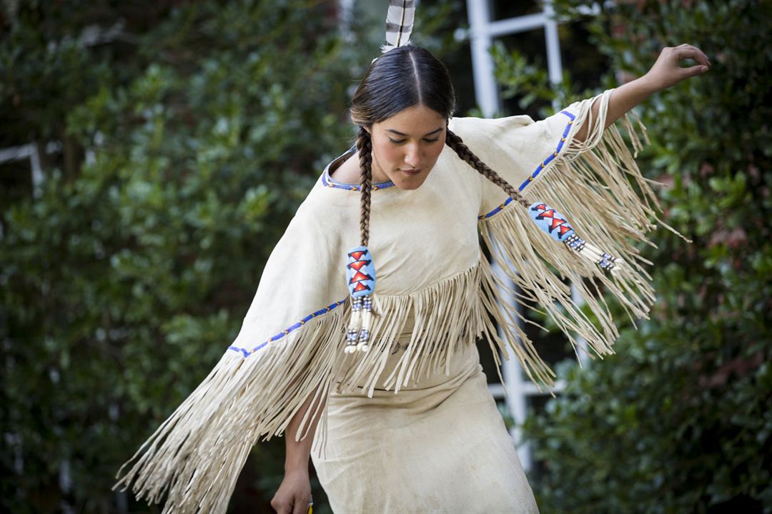
M 113 477 L 235 338 L 354 140 L 347 102 L 387 4 L 0 2 L 3 512 L 161 511 Z M 642 249 L 651 319 L 619 311 L 602 361 L 530 332 L 555 399 L 481 355 L 544 514 L 772 512 L 772 2 L 421 0 L 415 25 L 461 116 L 540 119 L 663 46 L 709 55 L 635 109 L 638 163 L 693 241 L 661 227 Z M 256 445 L 229 512 L 273 512 L 283 445 Z

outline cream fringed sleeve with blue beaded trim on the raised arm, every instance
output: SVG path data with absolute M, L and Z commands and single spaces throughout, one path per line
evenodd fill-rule
M 652 244 L 645 234 L 658 223 L 667 226 L 658 217 L 652 181 L 642 176 L 635 163 L 645 127 L 628 113 L 603 128 L 612 91 L 571 104 L 537 123 L 529 116 L 511 116 L 456 119 L 452 126 L 483 162 L 530 203 L 542 203 L 523 207 L 486 180 L 479 213 L 482 240 L 503 271 L 503 275 L 492 270 L 484 274 L 484 301 L 510 344 L 520 341 L 516 354 L 537 387 L 550 388 L 555 375 L 520 330 L 517 321 L 524 320 L 520 306 L 543 309 L 575 351 L 581 349 L 577 344 L 581 338 L 591 358 L 593 353 L 603 358 L 614 353 L 611 346 L 618 338 L 604 293 L 615 297 L 631 319 L 648 317 L 655 300 L 645 270 L 651 263 L 641 256 L 637 244 Z M 598 102 L 597 116 L 591 110 L 594 102 Z M 580 142 L 575 134 L 582 126 L 590 129 Z M 627 133 L 627 143 L 620 128 Z M 538 215 L 546 215 L 551 223 L 549 233 L 534 223 Z M 588 245 L 616 258 L 613 270 L 601 269 L 560 242 L 557 228 L 566 220 Z M 569 284 L 581 301 L 572 295 Z

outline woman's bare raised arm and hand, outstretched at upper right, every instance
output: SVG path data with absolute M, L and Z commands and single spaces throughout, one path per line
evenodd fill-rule
M 697 64 L 682 68 L 679 63 L 682 59 L 694 59 Z M 674 48 L 665 47 L 659 54 L 657 62 L 645 76 L 628 82 L 611 92 L 608 100 L 608 113 L 606 114 L 605 127 L 621 118 L 630 109 L 643 102 L 655 92 L 675 86 L 678 82 L 689 77 L 702 75 L 708 71 L 710 59 L 705 53 L 692 45 L 679 45 Z M 592 105 L 592 119 L 598 119 L 598 102 Z M 587 137 L 589 126 L 584 125 L 579 129 L 574 139 L 584 141 Z

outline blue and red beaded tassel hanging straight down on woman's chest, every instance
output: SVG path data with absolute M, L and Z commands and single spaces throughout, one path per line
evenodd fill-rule
M 370 348 L 375 266 L 367 247 L 360 246 L 349 250 L 346 278 L 351 297 L 351 318 L 346 331 L 344 351 L 350 354 L 357 350 L 367 351 Z

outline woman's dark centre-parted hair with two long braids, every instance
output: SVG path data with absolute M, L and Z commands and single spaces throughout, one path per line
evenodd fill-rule
M 372 193 L 372 141 L 365 127 L 413 106 L 425 106 L 449 119 L 455 109 L 455 91 L 445 65 L 432 52 L 420 46 L 405 45 L 375 59 L 360 82 L 351 100 L 351 120 L 357 124 L 357 149 L 361 170 L 361 244 L 367 246 L 370 238 L 370 198 Z M 476 156 L 463 140 L 445 132 L 445 144 L 461 160 L 482 176 L 499 186 L 517 203 L 530 203 L 498 173 Z

